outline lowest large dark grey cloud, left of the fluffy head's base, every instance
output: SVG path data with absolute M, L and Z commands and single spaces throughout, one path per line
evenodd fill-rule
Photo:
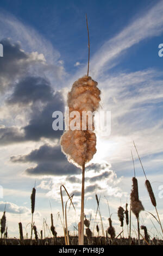
M 66 156 L 61 152 L 60 145 L 52 147 L 43 145 L 24 156 L 12 156 L 12 162 L 33 162 L 36 167 L 26 170 L 27 174 L 34 175 L 67 175 L 79 174 L 80 169 L 69 163 Z

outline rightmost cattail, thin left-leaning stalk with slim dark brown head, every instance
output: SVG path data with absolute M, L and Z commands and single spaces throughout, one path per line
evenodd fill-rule
M 134 143 L 134 141 L 133 141 L 133 143 Z M 147 187 L 147 190 L 148 190 L 148 193 L 149 193 L 149 197 L 151 198 L 151 202 L 152 202 L 152 204 L 153 204 L 153 206 L 154 206 L 154 208 L 156 210 L 156 214 L 158 216 L 159 224 L 160 224 L 161 231 L 162 231 L 162 234 L 163 234 L 163 229 L 162 229 L 159 213 L 158 213 L 158 210 L 156 209 L 156 200 L 155 200 L 155 196 L 154 196 L 154 193 L 153 193 L 153 190 L 152 190 L 152 186 L 151 186 L 151 183 L 149 182 L 149 180 L 147 180 L 147 176 L 146 176 L 145 170 L 143 168 L 143 165 L 142 165 L 142 162 L 141 162 L 141 159 L 140 159 L 140 156 L 139 156 L 139 153 L 137 151 L 135 143 L 134 143 L 134 147 L 136 149 L 137 156 L 139 157 L 139 161 L 141 163 L 141 167 L 142 167 L 143 173 L 145 174 L 145 178 L 146 178 L 145 186 Z

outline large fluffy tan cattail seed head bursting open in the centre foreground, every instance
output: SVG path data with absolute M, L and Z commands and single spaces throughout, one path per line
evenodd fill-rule
M 71 130 L 70 124 L 74 119 L 69 117 L 69 130 L 61 136 L 60 144 L 62 152 L 67 156 L 68 161 L 73 162 L 81 167 L 84 163 L 89 162 L 96 153 L 96 135 L 92 119 L 92 128 L 89 129 L 88 121 L 84 124 L 82 119 L 83 112 L 90 111 L 93 113 L 99 107 L 100 90 L 97 88 L 97 82 L 93 81 L 90 76 L 79 78 L 73 83 L 71 91 L 68 93 L 68 107 L 70 113 L 76 111 L 79 113 L 77 123 L 78 130 Z M 85 129 L 83 129 L 83 124 Z M 77 125 L 78 126 L 78 125 Z

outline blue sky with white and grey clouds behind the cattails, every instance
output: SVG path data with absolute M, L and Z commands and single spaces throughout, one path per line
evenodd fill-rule
M 143 185 L 145 178 L 133 148 L 134 139 L 163 221 L 159 197 L 163 182 L 163 57 L 158 56 L 158 46 L 163 43 L 163 1 L 2 0 L 0 11 L 0 41 L 4 46 L 0 59 L 0 185 L 4 192 L 0 210 L 7 201 L 9 235 L 18 233 L 20 211 L 23 227 L 30 221 L 30 191 L 35 179 L 38 229 L 43 218 L 50 220 L 51 200 L 61 234 L 57 221 L 61 184 L 66 184 L 70 193 L 75 192 L 74 219 L 79 220 L 80 170 L 60 151 L 61 133 L 52 130 L 52 113 L 64 109 L 72 83 L 86 74 L 85 13 L 90 29 L 90 75 L 102 91 L 101 107 L 111 111 L 111 135 L 97 134 L 97 153 L 92 168 L 87 170 L 85 213 L 95 214 L 95 193 L 101 194 L 107 228 L 104 196 L 111 212 L 120 202 L 122 206 L 129 202 L 133 150 L 140 199 L 145 209 L 155 214 Z M 102 174 L 109 178 L 101 180 L 98 175 Z M 146 212 L 142 215 L 154 233 L 149 216 L 146 218 Z M 118 233 L 120 223 L 116 215 L 114 218 Z M 69 223 L 72 227 L 71 217 Z

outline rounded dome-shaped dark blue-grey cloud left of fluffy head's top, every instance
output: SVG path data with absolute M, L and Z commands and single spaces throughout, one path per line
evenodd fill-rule
M 14 92 L 7 101 L 10 104 L 27 105 L 37 101 L 48 102 L 53 100 L 53 90 L 47 79 L 27 76 L 16 83 Z

